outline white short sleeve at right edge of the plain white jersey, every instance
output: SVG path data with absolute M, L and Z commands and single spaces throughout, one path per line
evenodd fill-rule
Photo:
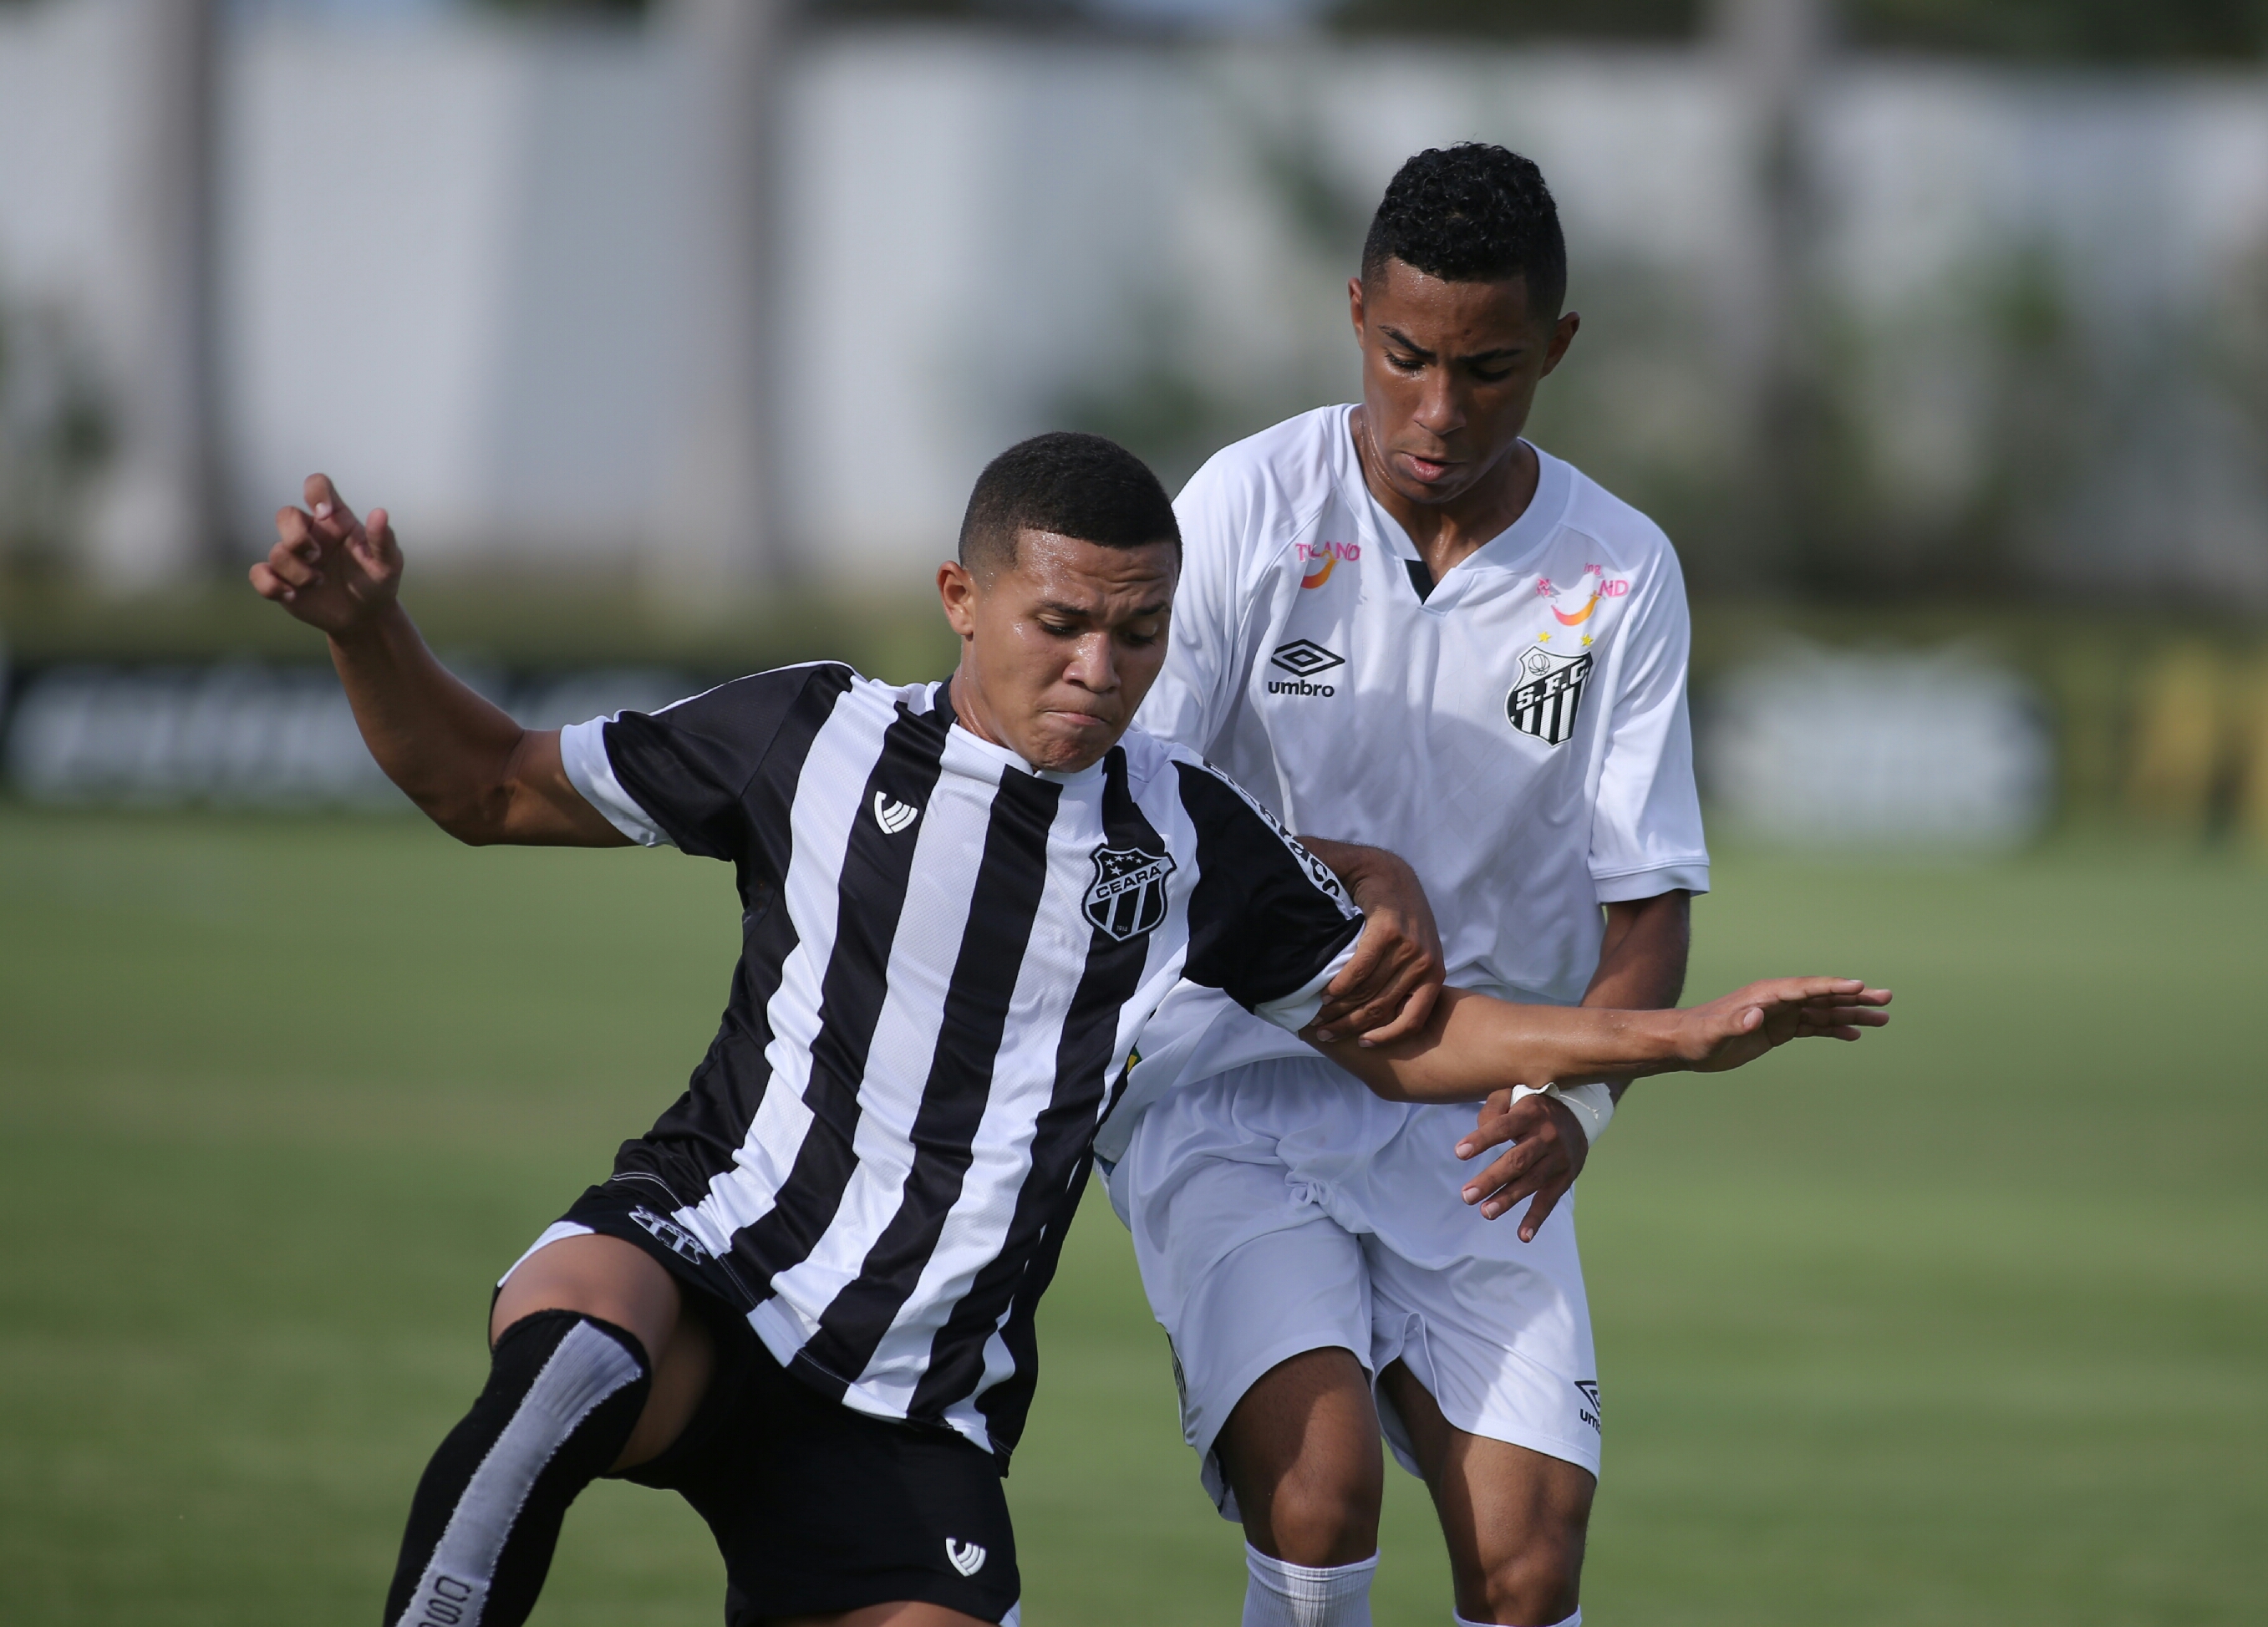
M 1685 581 L 1667 547 L 1647 588 L 1622 633 L 1624 669 L 1592 799 L 1590 878 L 1599 903 L 1681 887 L 1708 892 L 1708 844 L 1685 710 L 1692 626 Z

